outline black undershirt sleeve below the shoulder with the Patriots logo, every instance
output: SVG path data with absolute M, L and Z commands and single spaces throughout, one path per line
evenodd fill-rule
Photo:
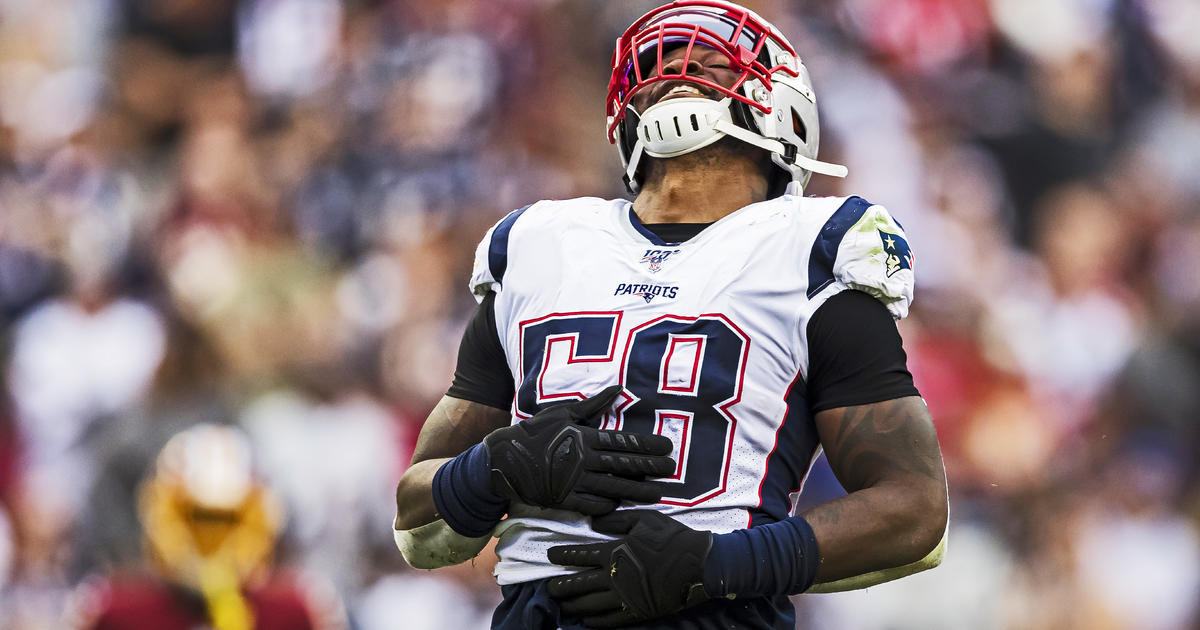
M 920 395 L 895 322 L 875 298 L 844 290 L 817 308 L 808 331 L 814 412 Z

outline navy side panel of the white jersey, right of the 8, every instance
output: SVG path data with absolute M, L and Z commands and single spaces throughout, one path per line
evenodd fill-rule
M 800 490 L 817 449 L 817 427 L 800 377 L 788 388 L 785 400 L 787 414 L 775 433 L 775 448 L 767 456 L 767 472 L 758 486 L 758 506 L 750 510 L 750 527 L 787 518 L 792 509 L 788 497 Z

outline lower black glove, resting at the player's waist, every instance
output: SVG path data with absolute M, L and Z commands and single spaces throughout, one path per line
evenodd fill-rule
M 592 520 L 618 536 L 608 542 L 551 547 L 554 564 L 592 569 L 552 578 L 551 598 L 588 628 L 619 628 L 708 601 L 704 562 L 713 534 L 653 510 L 622 510 Z

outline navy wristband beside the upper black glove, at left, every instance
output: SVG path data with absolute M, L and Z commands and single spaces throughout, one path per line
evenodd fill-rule
M 487 535 L 509 511 L 509 499 L 492 488 L 484 444 L 462 451 L 433 474 L 433 504 L 450 529 L 468 536 Z

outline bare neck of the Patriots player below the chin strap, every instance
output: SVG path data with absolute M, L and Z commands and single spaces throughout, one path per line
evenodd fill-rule
M 767 178 L 750 156 L 697 154 L 652 166 L 634 199 L 642 223 L 712 223 L 767 198 Z

